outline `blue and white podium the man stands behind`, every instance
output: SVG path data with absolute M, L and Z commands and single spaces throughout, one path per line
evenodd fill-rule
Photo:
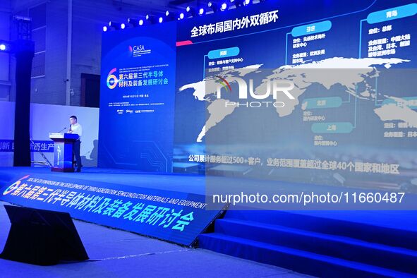
M 49 138 L 54 141 L 54 164 L 51 170 L 73 172 L 73 143 L 78 140 L 78 134 L 49 133 Z

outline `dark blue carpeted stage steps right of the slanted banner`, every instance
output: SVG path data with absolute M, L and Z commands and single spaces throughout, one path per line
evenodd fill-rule
M 228 211 L 200 248 L 319 277 L 417 277 L 417 233 L 291 212 Z

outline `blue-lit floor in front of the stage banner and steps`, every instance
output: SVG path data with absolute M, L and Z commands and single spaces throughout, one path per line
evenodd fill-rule
M 10 229 L 4 204 L 0 202 L 0 249 Z M 96 224 L 74 224 L 90 261 L 42 267 L 0 259 L 0 277 L 308 277 Z

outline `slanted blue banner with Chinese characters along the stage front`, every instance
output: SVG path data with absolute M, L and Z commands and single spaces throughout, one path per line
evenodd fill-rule
M 68 212 L 73 218 L 184 246 L 192 246 L 224 207 L 217 205 L 214 210 L 206 210 L 203 195 L 78 179 L 68 181 L 54 175 L 25 175 L 0 192 L 2 201 Z

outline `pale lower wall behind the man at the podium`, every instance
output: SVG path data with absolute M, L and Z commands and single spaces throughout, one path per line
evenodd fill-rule
M 0 140 L 13 140 L 14 136 L 14 102 L 0 102 Z M 81 139 L 81 157 L 85 167 L 97 167 L 97 147 L 99 134 L 99 109 L 90 107 L 69 107 L 52 104 L 31 104 L 30 135 L 32 139 L 49 140 L 49 133 L 58 132 L 69 127 L 69 117 L 75 115 L 83 126 Z M 44 155 L 50 162 L 52 153 Z M 32 152 L 32 161 L 43 161 L 42 156 Z M 0 167 L 13 166 L 13 152 L 0 152 Z

